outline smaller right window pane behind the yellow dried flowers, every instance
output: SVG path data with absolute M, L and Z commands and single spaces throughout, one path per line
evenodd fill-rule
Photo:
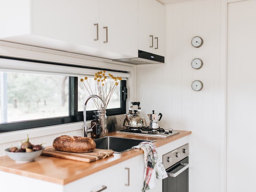
M 83 77 L 78 77 L 78 111 L 83 111 L 84 110 L 84 102 L 85 99 L 87 97 L 89 97 L 89 93 L 86 90 L 83 82 L 80 81 L 80 79 Z M 89 90 L 90 92 L 92 91 L 93 94 L 96 93 L 96 83 L 95 80 L 93 79 L 94 77 L 88 77 L 87 81 L 90 84 L 90 88 L 91 90 Z M 87 85 L 87 81 L 84 81 L 84 83 L 86 83 Z M 120 83 L 118 84 L 118 86 L 116 86 L 115 91 L 110 99 L 110 102 L 108 104 L 107 109 L 115 109 L 115 108 L 120 108 L 121 107 L 121 103 L 120 103 Z M 97 110 L 94 102 L 92 99 L 90 99 L 87 103 L 86 106 L 86 110 L 87 111 L 91 111 L 91 110 Z

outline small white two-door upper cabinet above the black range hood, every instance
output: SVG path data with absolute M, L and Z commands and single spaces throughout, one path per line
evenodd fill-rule
M 138 36 L 139 50 L 165 55 L 164 5 L 156 0 L 138 0 Z

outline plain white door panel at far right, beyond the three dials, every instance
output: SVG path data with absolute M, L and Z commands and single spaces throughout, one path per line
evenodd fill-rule
M 227 192 L 256 181 L 256 0 L 227 7 Z

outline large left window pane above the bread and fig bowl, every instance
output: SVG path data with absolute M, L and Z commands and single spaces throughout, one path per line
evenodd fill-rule
M 68 115 L 68 77 L 0 71 L 0 123 Z

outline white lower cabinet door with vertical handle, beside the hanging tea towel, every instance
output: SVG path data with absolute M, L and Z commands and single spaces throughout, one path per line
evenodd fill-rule
M 120 163 L 120 191 L 141 191 L 143 188 L 144 167 L 143 155 Z

